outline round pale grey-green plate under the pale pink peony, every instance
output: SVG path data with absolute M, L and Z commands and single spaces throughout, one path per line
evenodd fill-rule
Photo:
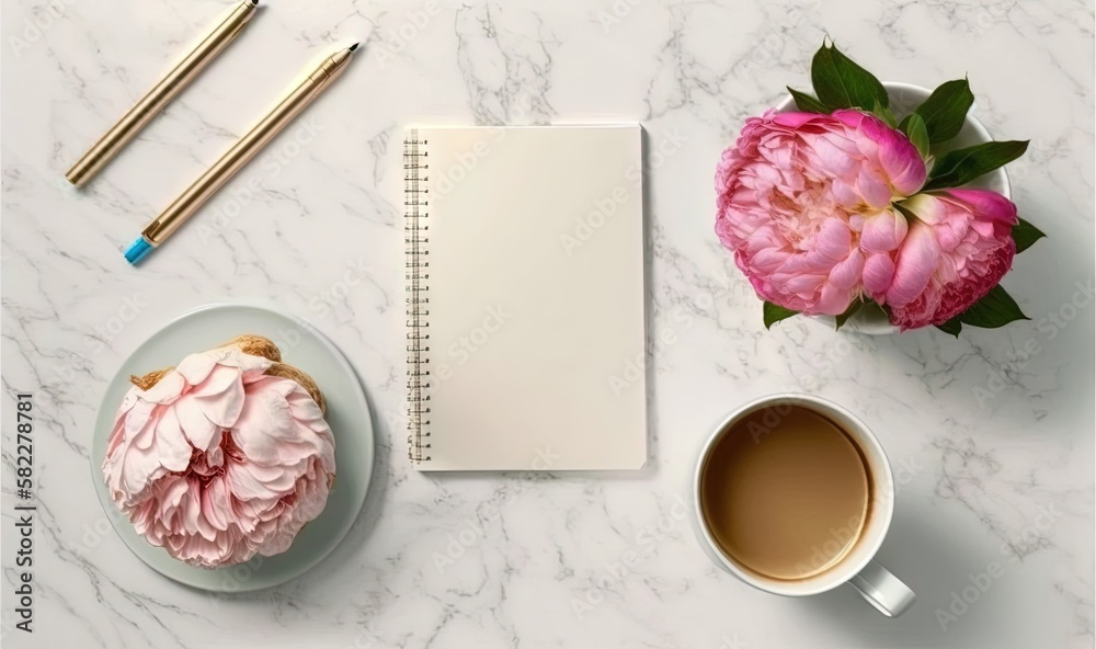
M 187 354 L 216 348 L 243 333 L 274 341 L 282 358 L 308 373 L 327 399 L 327 420 L 335 440 L 335 482 L 323 513 L 305 525 L 293 546 L 275 557 L 254 557 L 238 566 L 204 569 L 171 558 L 137 534 L 111 500 L 102 464 L 114 414 L 129 390 L 129 376 L 176 365 Z M 362 511 L 373 475 L 373 419 L 354 368 L 338 348 L 301 320 L 253 306 L 212 305 L 184 314 L 130 355 L 106 388 L 91 445 L 95 492 L 114 530 L 137 558 L 165 577 L 215 592 L 254 591 L 300 577 L 339 545 Z

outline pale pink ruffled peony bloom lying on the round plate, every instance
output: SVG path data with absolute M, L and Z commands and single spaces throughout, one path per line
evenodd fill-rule
M 103 472 L 137 532 L 202 567 L 288 549 L 323 510 L 334 441 L 296 382 L 235 346 L 192 354 L 130 388 Z

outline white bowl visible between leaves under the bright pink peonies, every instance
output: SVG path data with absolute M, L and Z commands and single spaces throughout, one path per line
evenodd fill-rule
M 927 88 L 922 88 L 912 83 L 883 81 L 883 88 L 887 89 L 887 96 L 890 100 L 890 110 L 894 113 L 894 116 L 898 117 L 899 121 L 912 113 L 914 109 L 921 105 L 921 103 L 928 99 L 928 95 L 932 94 L 932 91 Z M 978 104 L 975 103 L 971 106 L 970 112 L 967 113 L 967 122 L 959 130 L 959 135 L 951 138 L 947 143 L 933 147 L 932 153 L 936 158 L 939 158 L 952 149 L 962 149 L 964 147 L 972 147 L 974 145 L 993 140 L 993 138 L 990 137 L 990 132 L 985 129 L 985 126 L 982 126 L 982 123 L 974 117 L 973 113 L 977 107 Z M 776 111 L 778 113 L 790 113 L 797 110 L 795 99 L 792 99 L 790 94 L 776 105 Z M 979 190 L 992 190 L 1004 195 L 1006 198 L 1012 198 L 1012 187 L 1008 184 L 1008 174 L 1005 173 L 1004 167 L 991 171 L 990 173 L 978 178 L 964 186 Z M 815 316 L 814 319 L 820 322 L 824 322 L 830 327 L 834 327 L 836 324 L 833 316 Z M 883 335 L 894 333 L 899 329 L 887 320 L 887 316 L 881 309 L 864 308 L 849 318 L 841 330 L 854 331 L 856 333 L 864 333 L 867 335 Z

